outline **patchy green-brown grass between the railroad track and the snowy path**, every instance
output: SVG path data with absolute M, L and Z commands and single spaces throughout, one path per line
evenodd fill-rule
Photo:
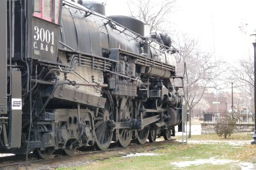
M 140 151 L 140 153 L 143 151 Z M 143 152 L 145 153 L 145 152 Z M 110 157 L 108 160 L 98 160 L 83 167 L 71 167 L 68 169 L 177 169 L 172 162 L 193 162 L 195 160 L 215 159 L 234 160 L 223 165 L 200 164 L 178 169 L 240 169 L 239 162 L 255 162 L 256 145 L 244 145 L 234 147 L 225 143 L 199 145 L 189 144 L 164 145 L 164 148 L 152 150 L 156 156 L 143 157 Z M 65 168 L 61 168 L 65 169 Z

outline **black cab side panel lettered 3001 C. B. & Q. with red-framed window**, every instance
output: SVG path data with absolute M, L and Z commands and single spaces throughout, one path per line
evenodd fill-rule
M 61 0 L 35 0 L 28 21 L 28 57 L 56 62 L 60 32 Z M 29 10 L 28 10 L 29 12 Z

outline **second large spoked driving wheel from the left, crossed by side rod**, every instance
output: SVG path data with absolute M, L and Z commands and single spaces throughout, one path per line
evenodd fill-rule
M 123 97 L 120 99 L 119 113 L 116 115 L 117 122 L 124 122 L 132 118 L 133 105 L 131 99 Z M 129 129 L 116 129 L 116 136 L 118 137 L 118 145 L 127 147 L 131 142 L 132 131 Z

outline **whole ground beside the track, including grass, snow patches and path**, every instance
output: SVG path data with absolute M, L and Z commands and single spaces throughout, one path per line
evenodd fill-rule
M 198 131 L 192 126 L 188 145 L 180 143 L 182 136 L 177 133 L 176 143 L 31 164 L 28 169 L 256 169 L 256 146 L 250 145 L 251 133 L 223 139 L 215 134 L 195 135 Z

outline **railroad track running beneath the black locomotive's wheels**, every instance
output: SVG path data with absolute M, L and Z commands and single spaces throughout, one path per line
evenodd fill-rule
M 97 154 L 102 154 L 102 153 L 111 153 L 111 152 L 116 152 L 116 151 L 125 151 L 125 150 L 130 150 L 130 149 L 137 149 L 137 148 L 142 148 L 142 147 L 147 147 L 147 146 L 157 146 L 157 148 L 161 148 L 166 143 L 174 143 L 176 140 L 171 139 L 168 141 L 157 141 L 156 143 L 145 143 L 144 145 L 136 145 L 134 143 L 131 143 L 131 145 L 127 146 L 126 148 L 120 148 L 116 146 L 116 143 L 113 143 L 109 147 L 108 150 L 95 150 L 94 147 L 88 147 L 86 150 L 83 150 L 83 152 L 76 152 L 74 155 L 71 156 L 63 156 L 63 155 L 56 155 L 56 157 L 52 157 L 51 159 L 43 160 L 43 159 L 36 159 L 35 155 L 33 153 L 29 153 L 28 155 L 28 162 L 26 162 L 26 157 L 24 155 L 12 155 L 12 156 L 6 156 L 6 157 L 0 157 L 0 169 L 4 167 L 9 167 L 12 169 L 14 166 L 30 166 L 31 164 L 54 164 L 56 162 L 60 161 L 65 161 L 65 160 L 70 160 L 70 159 L 78 159 L 80 157 L 84 157 L 86 155 L 92 156 L 92 155 L 97 155 Z M 122 156 L 124 153 L 118 154 L 117 156 Z M 125 153 L 126 155 L 126 153 Z

